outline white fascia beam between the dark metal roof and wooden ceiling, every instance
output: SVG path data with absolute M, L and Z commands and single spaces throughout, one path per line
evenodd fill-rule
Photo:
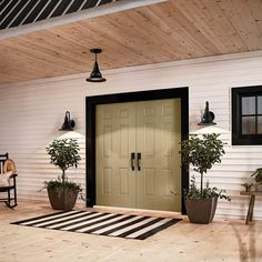
M 111 3 L 102 4 L 97 8 L 90 8 L 82 11 L 73 12 L 70 14 L 50 18 L 47 20 L 42 20 L 39 22 L 33 22 L 24 26 L 20 26 L 17 28 L 8 28 L 0 31 L 0 40 L 8 39 L 12 37 L 18 37 L 21 34 L 27 34 L 40 30 L 44 30 L 48 28 L 54 28 L 59 26 L 64 26 L 69 23 L 73 23 L 77 21 L 97 18 L 110 13 L 115 13 L 129 9 L 134 9 L 139 7 L 150 6 L 160 2 L 167 2 L 168 0 L 123 0 L 123 1 L 113 1 Z

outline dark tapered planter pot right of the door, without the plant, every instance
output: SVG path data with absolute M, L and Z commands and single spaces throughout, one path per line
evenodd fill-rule
M 213 221 L 218 198 L 185 199 L 185 210 L 191 223 L 209 224 Z

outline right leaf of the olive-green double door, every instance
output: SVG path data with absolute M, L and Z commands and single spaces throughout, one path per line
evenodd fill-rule
M 137 152 L 141 152 L 137 206 L 140 209 L 181 211 L 180 115 L 180 99 L 137 103 Z

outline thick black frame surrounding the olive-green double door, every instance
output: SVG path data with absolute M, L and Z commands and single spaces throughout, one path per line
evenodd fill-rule
M 85 98 L 85 195 L 87 206 L 93 206 L 95 200 L 95 107 L 107 103 L 122 103 L 161 99 L 181 99 L 181 140 L 189 134 L 189 89 L 160 89 L 129 93 L 103 94 Z M 189 188 L 189 172 L 182 168 L 181 189 Z M 181 192 L 182 193 L 182 192 Z M 181 195 L 182 213 L 185 213 L 183 198 Z

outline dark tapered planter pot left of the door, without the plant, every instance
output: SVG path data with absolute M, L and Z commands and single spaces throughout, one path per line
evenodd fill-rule
M 48 189 L 48 196 L 52 209 L 67 211 L 73 209 L 78 199 L 78 191 Z

